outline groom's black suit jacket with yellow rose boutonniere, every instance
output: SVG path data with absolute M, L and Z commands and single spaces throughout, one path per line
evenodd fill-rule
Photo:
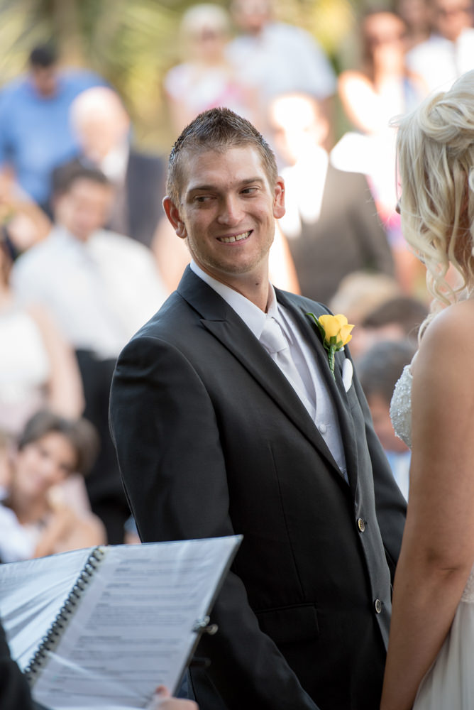
M 193 674 L 202 710 L 224 707 L 215 690 L 229 709 L 375 710 L 404 500 L 358 381 L 344 391 L 344 354 L 334 380 L 305 315 L 326 309 L 277 298 L 334 397 L 349 483 L 277 365 L 189 267 L 119 356 L 118 461 L 143 540 L 243 533 L 219 633 L 200 644 L 211 666 Z

